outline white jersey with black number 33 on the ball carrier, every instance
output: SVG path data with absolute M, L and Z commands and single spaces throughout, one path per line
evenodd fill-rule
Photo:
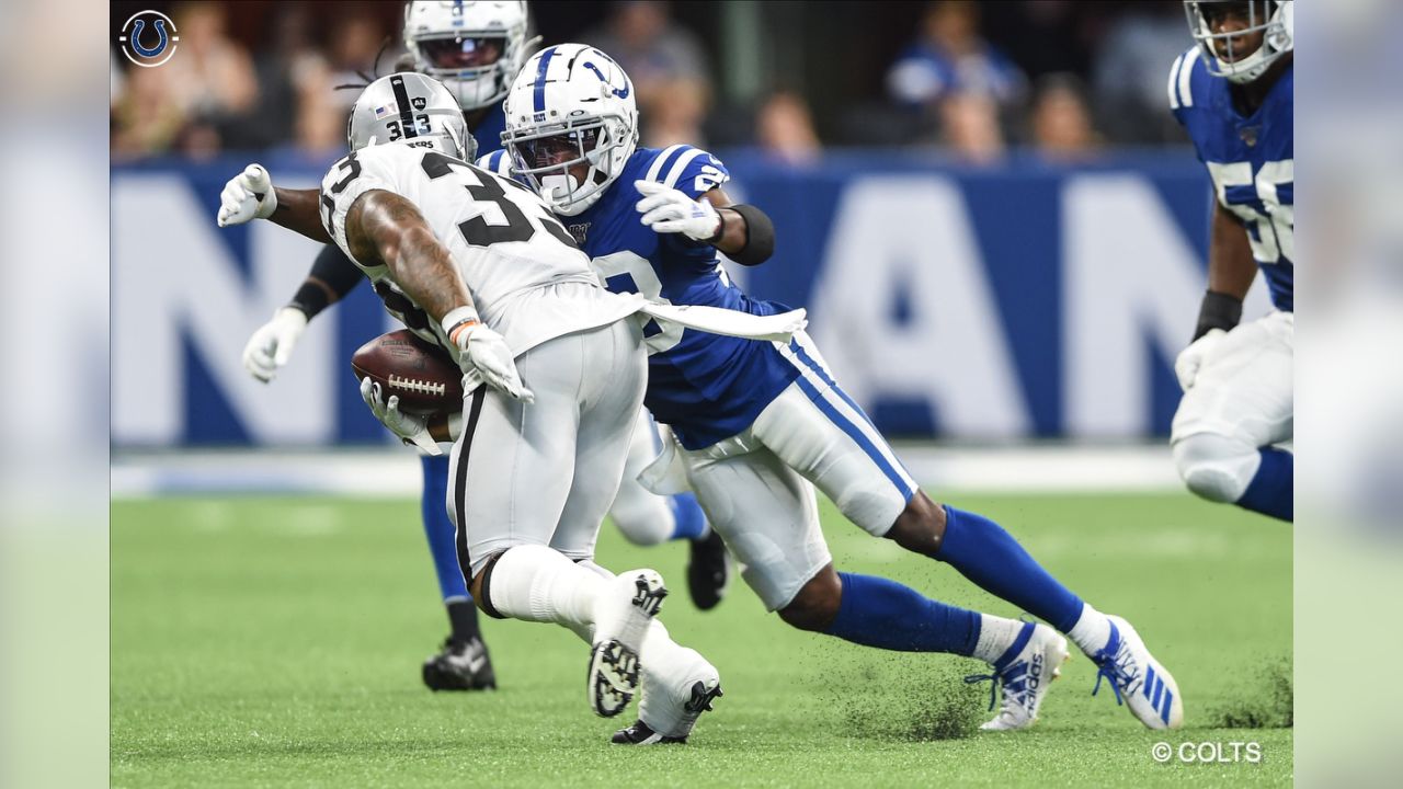
M 355 258 L 345 218 L 368 191 L 384 190 L 418 208 L 473 293 L 483 321 L 521 354 L 546 340 L 613 323 L 637 309 L 599 286 L 589 258 L 546 205 L 515 181 L 412 142 L 363 147 L 321 181 L 321 222 L 375 284 L 384 307 L 431 343 L 456 351 L 389 267 Z

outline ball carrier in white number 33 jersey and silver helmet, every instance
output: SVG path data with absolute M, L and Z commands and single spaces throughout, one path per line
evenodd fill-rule
M 655 621 L 657 571 L 592 562 L 643 400 L 643 333 L 624 320 L 643 300 L 599 286 L 529 190 L 464 161 L 474 142 L 441 83 L 376 80 L 348 136 L 321 187 L 325 234 L 464 372 L 449 500 L 473 598 L 589 643 L 600 716 L 647 678 L 640 713 L 685 738 L 720 694 L 716 668 Z

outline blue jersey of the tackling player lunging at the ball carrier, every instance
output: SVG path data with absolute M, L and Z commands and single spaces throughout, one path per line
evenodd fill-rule
M 505 173 L 495 153 L 480 166 Z M 702 305 L 776 314 L 790 307 L 746 296 L 725 277 L 716 247 L 680 233 L 655 233 L 634 205 L 634 181 L 666 184 L 696 199 L 730 173 L 710 153 L 675 145 L 638 149 L 599 201 L 578 216 L 561 216 L 595 272 L 610 291 L 643 293 L 655 302 Z M 739 340 L 680 327 L 644 326 L 648 392 L 644 404 L 672 427 L 687 449 L 702 449 L 751 427 L 796 378 L 798 368 L 773 343 Z

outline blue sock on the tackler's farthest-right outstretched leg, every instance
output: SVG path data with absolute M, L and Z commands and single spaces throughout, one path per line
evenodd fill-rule
M 1082 599 L 1048 574 L 1013 535 L 984 515 L 946 505 L 939 559 L 984 591 L 1017 605 L 1066 633 L 1082 615 Z

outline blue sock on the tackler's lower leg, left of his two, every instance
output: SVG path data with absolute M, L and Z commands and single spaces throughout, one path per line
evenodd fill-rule
M 839 573 L 843 599 L 829 636 L 897 651 L 974 654 L 979 615 L 922 597 L 911 587 L 875 576 Z

